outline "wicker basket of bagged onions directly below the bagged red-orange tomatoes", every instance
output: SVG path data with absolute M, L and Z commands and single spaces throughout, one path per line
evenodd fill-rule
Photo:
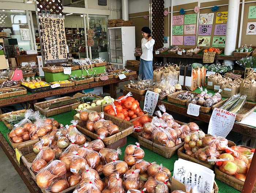
M 105 139 L 102 139 L 102 141 L 105 145 L 110 145 L 114 142 L 119 141 L 120 139 L 123 139 L 127 135 L 130 135 L 131 133 L 133 133 L 133 124 L 128 121 L 125 121 L 125 120 L 117 118 L 117 117 L 112 117 L 111 115 L 108 115 L 106 113 L 104 113 L 104 119 L 112 121 L 115 125 L 117 125 L 119 127 L 119 130 L 120 130 L 120 132 L 118 132 L 117 134 L 114 134 L 110 137 L 106 137 Z M 76 128 L 78 128 L 78 130 L 80 132 L 82 132 L 83 134 L 87 135 L 88 137 L 90 137 L 92 139 L 98 139 L 98 137 L 99 137 L 99 135 L 97 135 L 91 131 L 88 131 L 86 129 L 85 121 L 78 123 L 76 125 Z

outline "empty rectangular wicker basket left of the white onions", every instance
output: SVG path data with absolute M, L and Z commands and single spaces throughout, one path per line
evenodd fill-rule
M 80 102 L 75 102 L 74 104 L 71 104 L 71 105 L 65 105 L 65 106 L 61 106 L 61 107 L 58 107 L 58 108 L 54 108 L 54 109 L 47 109 L 48 107 L 50 107 L 50 105 L 53 102 L 62 101 L 62 100 L 65 100 L 65 99 L 71 99 L 71 97 L 70 96 L 64 96 L 64 97 L 57 98 L 57 99 L 52 99 L 52 100 L 49 100 L 49 101 L 35 103 L 34 107 L 35 107 L 35 110 L 37 110 L 41 114 L 45 115 L 45 117 L 50 117 L 50 116 L 53 116 L 53 115 L 58 115 L 58 114 L 61 114 L 61 113 L 71 111 L 72 106 L 80 104 Z

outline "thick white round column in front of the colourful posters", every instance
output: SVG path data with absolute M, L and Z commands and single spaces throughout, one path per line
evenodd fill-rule
M 232 55 L 232 52 L 236 49 L 239 5 L 240 0 L 229 0 L 229 8 L 227 12 L 226 42 L 224 51 L 225 55 Z M 224 62 L 234 63 L 230 60 L 224 60 Z

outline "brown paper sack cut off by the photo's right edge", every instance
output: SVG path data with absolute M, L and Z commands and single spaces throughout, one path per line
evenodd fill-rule
M 247 95 L 247 101 L 256 102 L 256 81 L 252 78 L 246 78 L 241 82 L 241 95 Z

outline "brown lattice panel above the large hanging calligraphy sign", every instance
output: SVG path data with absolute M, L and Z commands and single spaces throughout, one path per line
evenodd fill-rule
M 37 0 L 37 11 L 49 10 L 50 14 L 63 15 L 62 0 Z

